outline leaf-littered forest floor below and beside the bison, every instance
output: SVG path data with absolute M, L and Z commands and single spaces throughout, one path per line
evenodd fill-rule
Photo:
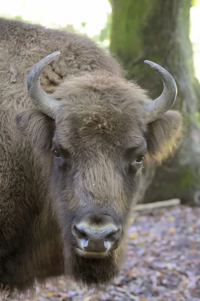
M 104 291 L 86 291 L 62 278 L 36 287 L 33 300 L 200 301 L 200 208 L 133 212 L 123 268 Z

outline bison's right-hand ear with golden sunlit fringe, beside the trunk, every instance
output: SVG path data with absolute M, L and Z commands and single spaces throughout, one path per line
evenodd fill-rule
M 182 116 L 177 111 L 168 111 L 148 124 L 146 133 L 147 158 L 161 163 L 176 147 L 182 133 Z

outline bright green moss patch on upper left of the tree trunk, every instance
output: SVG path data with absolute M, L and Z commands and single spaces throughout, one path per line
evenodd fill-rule
M 142 29 L 154 1 L 135 1 L 134 5 L 132 0 L 114 0 L 113 3 L 110 52 L 117 54 L 126 65 L 142 51 Z

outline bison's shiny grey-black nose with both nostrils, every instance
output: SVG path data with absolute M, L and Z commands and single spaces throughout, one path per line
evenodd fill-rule
M 92 229 L 86 225 L 74 225 L 73 236 L 78 246 L 85 251 L 105 252 L 116 249 L 119 245 L 121 227 L 108 225 L 99 229 Z

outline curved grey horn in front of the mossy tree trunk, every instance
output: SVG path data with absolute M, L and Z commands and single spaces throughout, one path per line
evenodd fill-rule
M 176 98 L 177 87 L 173 77 L 164 68 L 151 61 L 144 61 L 144 63 L 156 71 L 164 84 L 162 94 L 155 100 L 145 103 L 144 105 L 146 123 L 149 123 L 170 109 Z

